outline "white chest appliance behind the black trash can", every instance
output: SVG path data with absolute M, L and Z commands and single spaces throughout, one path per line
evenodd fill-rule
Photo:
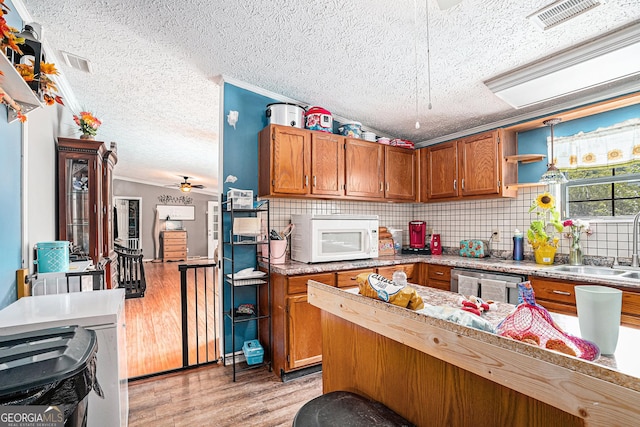
M 98 337 L 96 376 L 104 399 L 89 393 L 88 426 L 126 427 L 129 417 L 124 289 L 23 297 L 0 310 L 0 335 L 78 325 Z

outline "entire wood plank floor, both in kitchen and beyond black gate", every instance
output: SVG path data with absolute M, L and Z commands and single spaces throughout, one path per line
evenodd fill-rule
M 125 300 L 127 372 L 129 378 L 182 366 L 180 274 L 181 263 L 144 264 L 147 291 L 143 298 Z M 190 276 L 191 277 L 191 276 Z M 208 277 L 211 284 L 212 277 Z M 213 290 L 199 278 L 198 305 L 211 303 Z M 207 299 L 204 298 L 206 294 Z M 216 296 L 217 297 L 217 296 Z M 189 294 L 189 306 L 196 298 Z M 198 334 L 212 329 L 213 319 L 198 319 Z M 191 338 L 195 320 L 190 320 Z M 199 358 L 214 359 L 219 331 Z M 218 346 L 216 348 L 216 345 Z M 190 346 L 190 362 L 196 360 Z M 209 353 L 207 353 L 209 350 Z M 274 372 L 255 369 L 237 374 L 222 364 L 129 382 L 129 425 L 135 426 L 291 426 L 300 407 L 322 394 L 322 373 L 283 383 Z

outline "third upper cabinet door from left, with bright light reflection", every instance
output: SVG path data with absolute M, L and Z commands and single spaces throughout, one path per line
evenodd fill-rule
M 384 145 L 349 138 L 345 144 L 346 195 L 382 199 Z

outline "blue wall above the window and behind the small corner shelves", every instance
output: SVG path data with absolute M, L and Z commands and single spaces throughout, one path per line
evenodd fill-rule
M 625 120 L 640 117 L 640 104 L 607 111 L 581 119 L 559 123 L 553 127 L 555 137 L 575 135 L 578 132 L 592 132 L 601 127 L 607 127 Z M 547 155 L 547 137 L 550 135 L 548 127 L 533 129 L 518 134 L 518 154 Z M 547 170 L 546 159 L 541 162 L 521 164 L 518 167 L 518 182 L 537 182 Z

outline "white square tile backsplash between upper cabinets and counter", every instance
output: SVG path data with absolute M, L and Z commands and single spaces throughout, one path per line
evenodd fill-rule
M 370 203 L 338 200 L 271 199 L 271 228 L 283 230 L 296 213 L 376 214 L 380 225 L 403 230 L 403 244 L 409 244 L 408 223 L 423 220 L 427 229 L 439 233 L 443 247 L 457 248 L 460 240 L 489 240 L 491 232 L 499 229 L 500 242 L 493 242 L 493 251 L 510 252 L 513 231 L 525 233 L 525 254 L 532 252 L 526 243 L 526 231 L 535 214 L 529 213 L 540 188 L 521 188 L 515 199 L 470 200 L 444 203 Z M 591 221 L 593 234 L 583 236 L 581 245 L 585 256 L 630 258 L 632 252 L 632 218 L 616 221 Z M 569 239 L 561 237 L 558 254 L 569 253 Z

